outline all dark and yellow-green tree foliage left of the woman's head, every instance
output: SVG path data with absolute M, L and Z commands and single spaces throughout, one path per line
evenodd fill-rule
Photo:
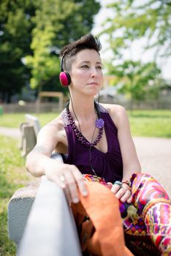
M 91 31 L 96 0 L 2 0 L 0 2 L 0 97 L 32 88 L 59 89 L 58 52 Z

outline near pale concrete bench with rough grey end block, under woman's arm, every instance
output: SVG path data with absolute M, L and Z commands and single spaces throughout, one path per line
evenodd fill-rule
M 62 162 L 60 154 L 53 153 L 51 158 Z M 82 255 L 64 191 L 45 176 L 38 189 L 18 189 L 9 200 L 8 231 L 18 256 Z

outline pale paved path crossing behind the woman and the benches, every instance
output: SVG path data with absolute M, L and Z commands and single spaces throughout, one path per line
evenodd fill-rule
M 0 134 L 20 138 L 20 130 L 0 127 Z M 171 139 L 134 137 L 142 171 L 151 174 L 171 196 Z

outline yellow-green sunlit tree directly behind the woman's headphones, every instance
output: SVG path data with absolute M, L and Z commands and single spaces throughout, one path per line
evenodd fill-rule
M 98 11 L 99 4 L 95 1 L 42 1 L 33 18 L 36 26 L 32 31 L 31 49 L 34 54 L 26 56 L 26 64 L 31 67 L 31 88 L 42 90 L 44 86 L 48 90 L 62 90 L 56 77 L 60 72 L 58 52 L 91 30 L 93 16 Z M 56 78 L 54 82 L 53 78 Z

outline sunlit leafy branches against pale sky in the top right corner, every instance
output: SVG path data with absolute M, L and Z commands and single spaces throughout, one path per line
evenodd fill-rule
M 122 55 L 135 39 L 146 39 L 145 49 L 155 48 L 157 56 L 171 55 L 170 0 L 115 0 L 108 7 L 113 18 L 107 18 L 110 44 L 115 54 Z

